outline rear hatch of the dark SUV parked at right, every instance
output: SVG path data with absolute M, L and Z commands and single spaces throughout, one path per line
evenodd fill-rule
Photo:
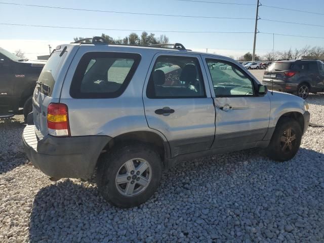
M 263 81 L 285 82 L 294 62 L 273 62 L 264 72 Z

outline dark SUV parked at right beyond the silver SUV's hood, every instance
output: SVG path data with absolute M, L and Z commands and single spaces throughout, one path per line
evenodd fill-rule
M 306 99 L 309 93 L 324 91 L 324 62 L 288 60 L 273 62 L 264 72 L 269 89 L 293 93 Z

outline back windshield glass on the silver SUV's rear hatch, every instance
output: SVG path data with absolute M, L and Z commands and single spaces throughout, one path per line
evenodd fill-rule
M 41 83 L 39 85 L 41 93 L 50 97 L 52 96 L 53 88 L 59 71 L 58 69 L 66 56 L 65 51 L 65 53 L 60 57 L 61 52 L 62 51 L 56 51 L 52 53 L 38 78 L 38 82 Z

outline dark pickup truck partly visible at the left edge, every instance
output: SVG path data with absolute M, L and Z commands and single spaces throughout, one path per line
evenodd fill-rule
M 46 61 L 21 59 L 0 48 L 0 118 L 9 118 L 23 107 L 32 109 L 32 94 Z

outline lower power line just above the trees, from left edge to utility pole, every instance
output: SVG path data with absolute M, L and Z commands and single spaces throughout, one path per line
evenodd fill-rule
M 145 29 L 106 29 L 106 28 L 87 28 L 87 27 L 68 27 L 68 26 L 53 26 L 53 25 L 34 25 L 34 24 L 12 24 L 0 23 L 1 25 L 12 26 L 27 26 L 27 27 L 45 27 L 45 28 L 60 28 L 60 29 L 92 29 L 92 30 L 116 30 L 116 31 L 149 31 L 149 32 L 166 32 L 166 33 L 224 33 L 224 34 L 251 34 L 254 32 L 230 32 L 230 31 L 182 31 L 182 30 L 145 30 Z

